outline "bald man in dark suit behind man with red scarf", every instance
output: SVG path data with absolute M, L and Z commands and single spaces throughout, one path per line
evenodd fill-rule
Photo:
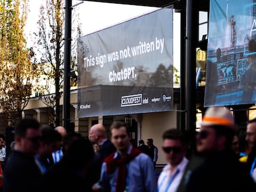
M 100 150 L 96 154 L 95 167 L 93 171 L 96 172 L 94 182 L 98 182 L 100 179 L 100 170 L 103 160 L 109 156 L 109 154 L 116 151 L 114 144 L 107 138 L 106 128 L 101 123 L 93 125 L 90 128 L 89 139 L 94 144 L 100 146 Z

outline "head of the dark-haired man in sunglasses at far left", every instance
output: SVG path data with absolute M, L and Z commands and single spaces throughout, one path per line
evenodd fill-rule
M 15 126 L 15 149 L 36 154 L 39 148 L 40 123 L 36 119 L 22 119 Z

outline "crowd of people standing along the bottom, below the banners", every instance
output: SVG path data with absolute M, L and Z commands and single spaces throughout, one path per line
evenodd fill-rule
M 98 123 L 85 138 L 64 127 L 20 120 L 8 157 L 0 135 L 0 192 L 256 191 L 256 119 L 245 135 L 237 135 L 231 111 L 209 107 L 192 137 L 174 128 L 164 131 L 161 150 L 168 163 L 158 178 L 153 139 L 137 146 L 120 121 L 109 131 L 108 138 Z

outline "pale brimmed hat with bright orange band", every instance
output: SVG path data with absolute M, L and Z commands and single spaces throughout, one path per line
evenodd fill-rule
M 203 116 L 202 126 L 224 125 L 234 127 L 234 117 L 226 107 L 209 107 Z

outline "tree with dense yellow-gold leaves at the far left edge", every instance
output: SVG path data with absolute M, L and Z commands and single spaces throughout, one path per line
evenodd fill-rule
M 21 119 L 37 81 L 23 35 L 27 9 L 26 0 L 0 0 L 0 107 L 9 125 Z

